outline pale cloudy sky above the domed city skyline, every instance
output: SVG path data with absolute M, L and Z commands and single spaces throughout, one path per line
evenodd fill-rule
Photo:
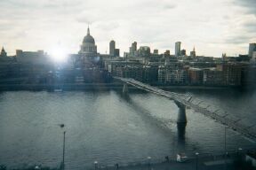
M 77 53 L 90 25 L 98 51 L 129 51 L 132 42 L 153 51 L 180 41 L 187 54 L 247 54 L 256 42 L 256 0 L 0 0 L 0 46 L 15 50 L 56 48 Z

